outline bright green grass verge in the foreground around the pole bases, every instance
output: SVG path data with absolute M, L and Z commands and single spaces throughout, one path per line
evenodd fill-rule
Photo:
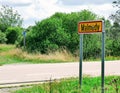
M 115 82 L 116 81 L 116 82 Z M 78 78 L 62 79 L 60 81 L 33 85 L 12 93 L 101 93 L 100 77 L 84 77 L 82 89 Z M 105 93 L 120 93 L 120 76 L 105 78 Z

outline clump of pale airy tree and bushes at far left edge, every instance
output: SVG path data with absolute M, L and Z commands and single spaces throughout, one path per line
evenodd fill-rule
M 0 9 L 0 42 L 14 44 L 18 39 L 23 19 L 12 7 L 3 5 Z

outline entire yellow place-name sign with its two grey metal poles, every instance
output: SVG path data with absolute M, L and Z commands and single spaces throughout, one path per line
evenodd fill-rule
M 79 84 L 82 88 L 82 60 L 83 60 L 83 34 L 102 32 L 102 57 L 101 57 L 101 93 L 104 93 L 104 60 L 105 60 L 105 29 L 104 21 L 82 21 L 78 23 L 78 33 L 80 34 L 80 63 L 79 63 Z

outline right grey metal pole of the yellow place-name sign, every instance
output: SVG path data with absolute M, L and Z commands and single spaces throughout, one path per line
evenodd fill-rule
M 104 29 L 104 22 L 103 22 L 103 32 L 102 32 L 102 68 L 101 68 L 101 78 L 102 78 L 102 82 L 101 82 L 101 93 L 104 93 L 104 77 L 105 77 L 105 29 Z

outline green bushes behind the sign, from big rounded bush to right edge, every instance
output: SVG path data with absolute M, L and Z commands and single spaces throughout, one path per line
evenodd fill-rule
M 112 26 L 109 20 L 99 18 L 89 10 L 72 13 L 55 13 L 50 18 L 36 22 L 35 26 L 26 29 L 26 47 L 28 52 L 49 54 L 50 52 L 67 50 L 74 56 L 79 56 L 79 21 L 104 20 L 106 32 L 106 56 L 120 55 L 119 23 Z M 96 59 L 101 55 L 101 34 L 84 35 L 84 59 Z M 23 46 L 23 37 L 18 40 L 18 46 Z

